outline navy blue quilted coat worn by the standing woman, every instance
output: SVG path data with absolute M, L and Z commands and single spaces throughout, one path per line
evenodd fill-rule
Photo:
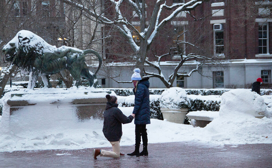
M 134 124 L 150 124 L 149 78 L 140 80 L 137 84 L 133 114 Z

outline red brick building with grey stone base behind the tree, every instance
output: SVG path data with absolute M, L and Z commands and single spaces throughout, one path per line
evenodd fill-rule
M 167 5 L 171 6 L 172 3 L 177 2 L 183 2 L 183 0 L 167 1 Z M 154 4 L 155 0 L 146 1 L 147 21 L 151 17 Z M 121 10 L 127 18 L 131 18 L 131 24 L 136 29 L 140 29 L 137 13 L 127 7 L 123 7 Z M 261 77 L 265 86 L 269 88 L 272 85 L 271 10 L 272 2 L 267 0 L 211 0 L 203 2 L 192 11 L 192 14 L 196 18 L 206 18 L 194 21 L 189 13 L 179 13 L 171 21 L 171 24 L 168 24 L 165 30 L 156 37 L 147 54 L 148 60 L 155 61 L 154 55 L 159 56 L 169 52 L 169 48 L 175 45 L 175 41 L 188 41 L 199 48 L 196 49 L 184 44 L 184 53 L 194 52 L 210 58 L 218 57 L 223 61 L 224 66 L 202 66 L 199 72 L 204 76 L 196 72 L 191 77 L 177 77 L 176 86 L 183 88 L 245 88 L 251 87 L 251 84 Z M 163 16 L 161 17 L 163 18 Z M 186 30 L 189 31 L 184 33 Z M 138 37 L 136 35 L 134 37 L 134 40 L 137 41 Z M 122 40 L 119 40 L 119 43 L 122 43 L 120 41 Z M 121 45 L 124 46 L 123 48 L 126 46 L 125 43 Z M 107 58 L 107 54 L 114 55 L 119 51 L 123 52 L 123 50 L 116 48 L 114 52 L 109 50 L 105 52 L 105 57 Z M 179 57 L 171 56 L 162 60 L 165 61 L 161 65 L 165 76 L 172 73 L 178 59 Z M 180 69 L 180 72 L 188 73 L 194 66 L 193 63 L 185 65 Z M 120 67 L 114 69 L 115 71 L 123 71 Z M 133 67 L 130 69 L 132 71 Z M 155 72 L 155 69 L 151 67 L 145 69 Z M 130 80 L 130 74 L 122 74 L 117 80 Z M 153 88 L 165 87 L 156 78 L 151 78 L 150 81 Z M 111 79 L 103 79 L 103 84 L 104 87 L 131 87 L 129 84 L 119 84 Z

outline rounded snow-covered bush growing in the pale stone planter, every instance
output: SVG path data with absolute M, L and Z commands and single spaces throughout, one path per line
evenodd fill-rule
M 160 101 L 161 108 L 188 108 L 187 92 L 178 87 L 169 88 L 162 92 Z

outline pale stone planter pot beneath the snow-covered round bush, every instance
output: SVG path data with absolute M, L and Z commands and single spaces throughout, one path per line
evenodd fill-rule
M 184 119 L 186 114 L 188 113 L 188 108 L 181 109 L 161 108 L 161 113 L 163 115 L 163 119 L 166 119 L 169 122 L 184 124 Z

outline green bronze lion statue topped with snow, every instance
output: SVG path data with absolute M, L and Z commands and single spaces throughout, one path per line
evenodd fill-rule
M 93 50 L 79 50 L 67 46 L 56 48 L 31 31 L 21 30 L 3 47 L 2 51 L 7 61 L 11 61 L 23 72 L 29 73 L 27 88 L 34 88 L 39 75 L 42 76 L 44 87 L 50 86 L 48 75 L 56 74 L 64 69 L 67 69 L 76 80 L 76 87 L 81 83 L 81 76 L 86 78 L 90 86 L 94 88 L 98 83 L 95 78 L 102 59 Z M 99 60 L 94 74 L 88 70 L 85 63 L 85 55 L 88 53 L 96 55 Z

